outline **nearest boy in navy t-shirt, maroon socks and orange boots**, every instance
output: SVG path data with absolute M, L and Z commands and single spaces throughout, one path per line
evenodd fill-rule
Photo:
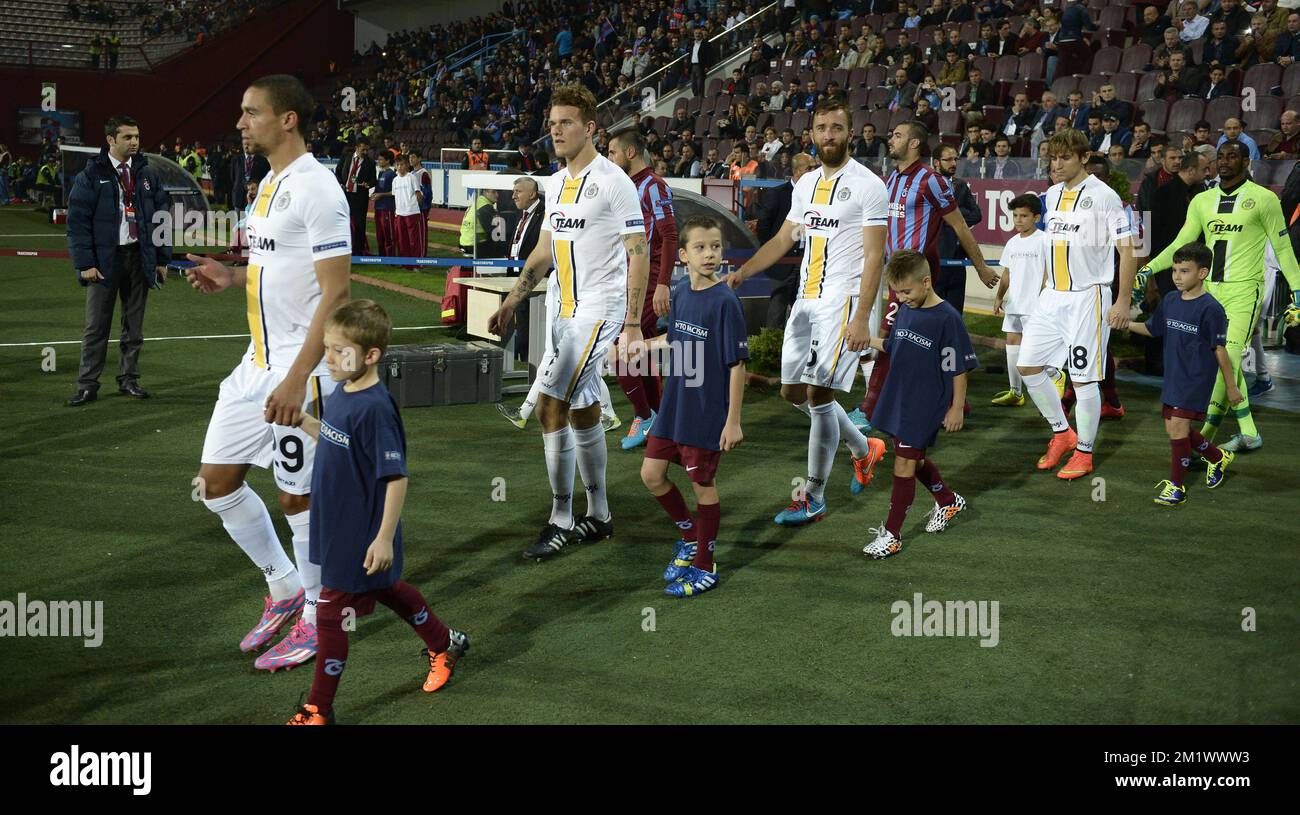
M 342 382 L 320 419 L 302 428 L 316 441 L 312 471 L 311 562 L 321 567 L 316 673 L 307 703 L 289 724 L 333 724 L 334 694 L 347 664 L 344 623 L 384 603 L 428 647 L 433 693 L 451 679 L 469 637 L 429 611 L 420 590 L 402 581 L 402 504 L 407 493 L 406 430 L 378 364 L 393 324 L 373 300 L 338 307 L 325 322 L 325 365 Z

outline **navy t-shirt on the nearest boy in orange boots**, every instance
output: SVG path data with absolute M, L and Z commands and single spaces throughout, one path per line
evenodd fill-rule
M 406 476 L 406 429 L 389 389 L 334 390 L 325 399 L 312 468 L 311 562 L 337 591 L 376 591 L 402 577 L 402 521 L 393 567 L 365 573 L 365 550 L 380 533 L 387 480 Z

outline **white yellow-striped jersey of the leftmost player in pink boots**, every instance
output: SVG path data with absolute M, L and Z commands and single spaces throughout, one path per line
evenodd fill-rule
M 248 357 L 283 370 L 307 342 L 321 299 L 315 261 L 352 253 L 343 187 L 316 156 L 303 153 L 261 179 L 248 213 Z M 326 373 L 324 357 L 313 373 Z

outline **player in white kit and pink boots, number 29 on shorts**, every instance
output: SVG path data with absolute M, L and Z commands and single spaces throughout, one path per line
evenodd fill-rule
M 261 619 L 240 650 L 260 649 L 298 616 L 289 636 L 255 662 L 276 671 L 316 655 L 321 569 L 309 560 L 308 524 L 316 443 L 292 425 L 300 412 L 320 417 L 334 389 L 322 360 L 325 318 L 348 299 L 352 246 L 343 190 L 307 152 L 316 103 L 303 83 L 285 74 L 257 79 L 242 108 L 244 149 L 270 162 L 248 213 L 248 265 L 187 256 L 198 264 L 188 272 L 195 289 L 244 290 L 251 333 L 248 351 L 221 383 L 198 485 L 203 503 L 266 578 Z M 266 504 L 244 482 L 251 465 L 273 467 L 296 568 Z

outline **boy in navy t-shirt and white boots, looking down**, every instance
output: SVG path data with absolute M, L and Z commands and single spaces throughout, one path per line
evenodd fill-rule
M 871 347 L 892 360 L 871 424 L 894 439 L 894 481 L 889 516 L 871 530 L 875 538 L 862 550 L 876 559 L 902 549 L 902 520 L 918 481 L 935 497 L 926 532 L 942 532 L 966 508 L 966 499 L 944 484 L 926 450 L 935 446 L 940 428 L 949 433 L 962 429 L 966 372 L 976 367 L 966 324 L 935 292 L 924 255 L 894 252 L 885 265 L 885 281 L 900 305 L 893 334 L 871 339 Z

